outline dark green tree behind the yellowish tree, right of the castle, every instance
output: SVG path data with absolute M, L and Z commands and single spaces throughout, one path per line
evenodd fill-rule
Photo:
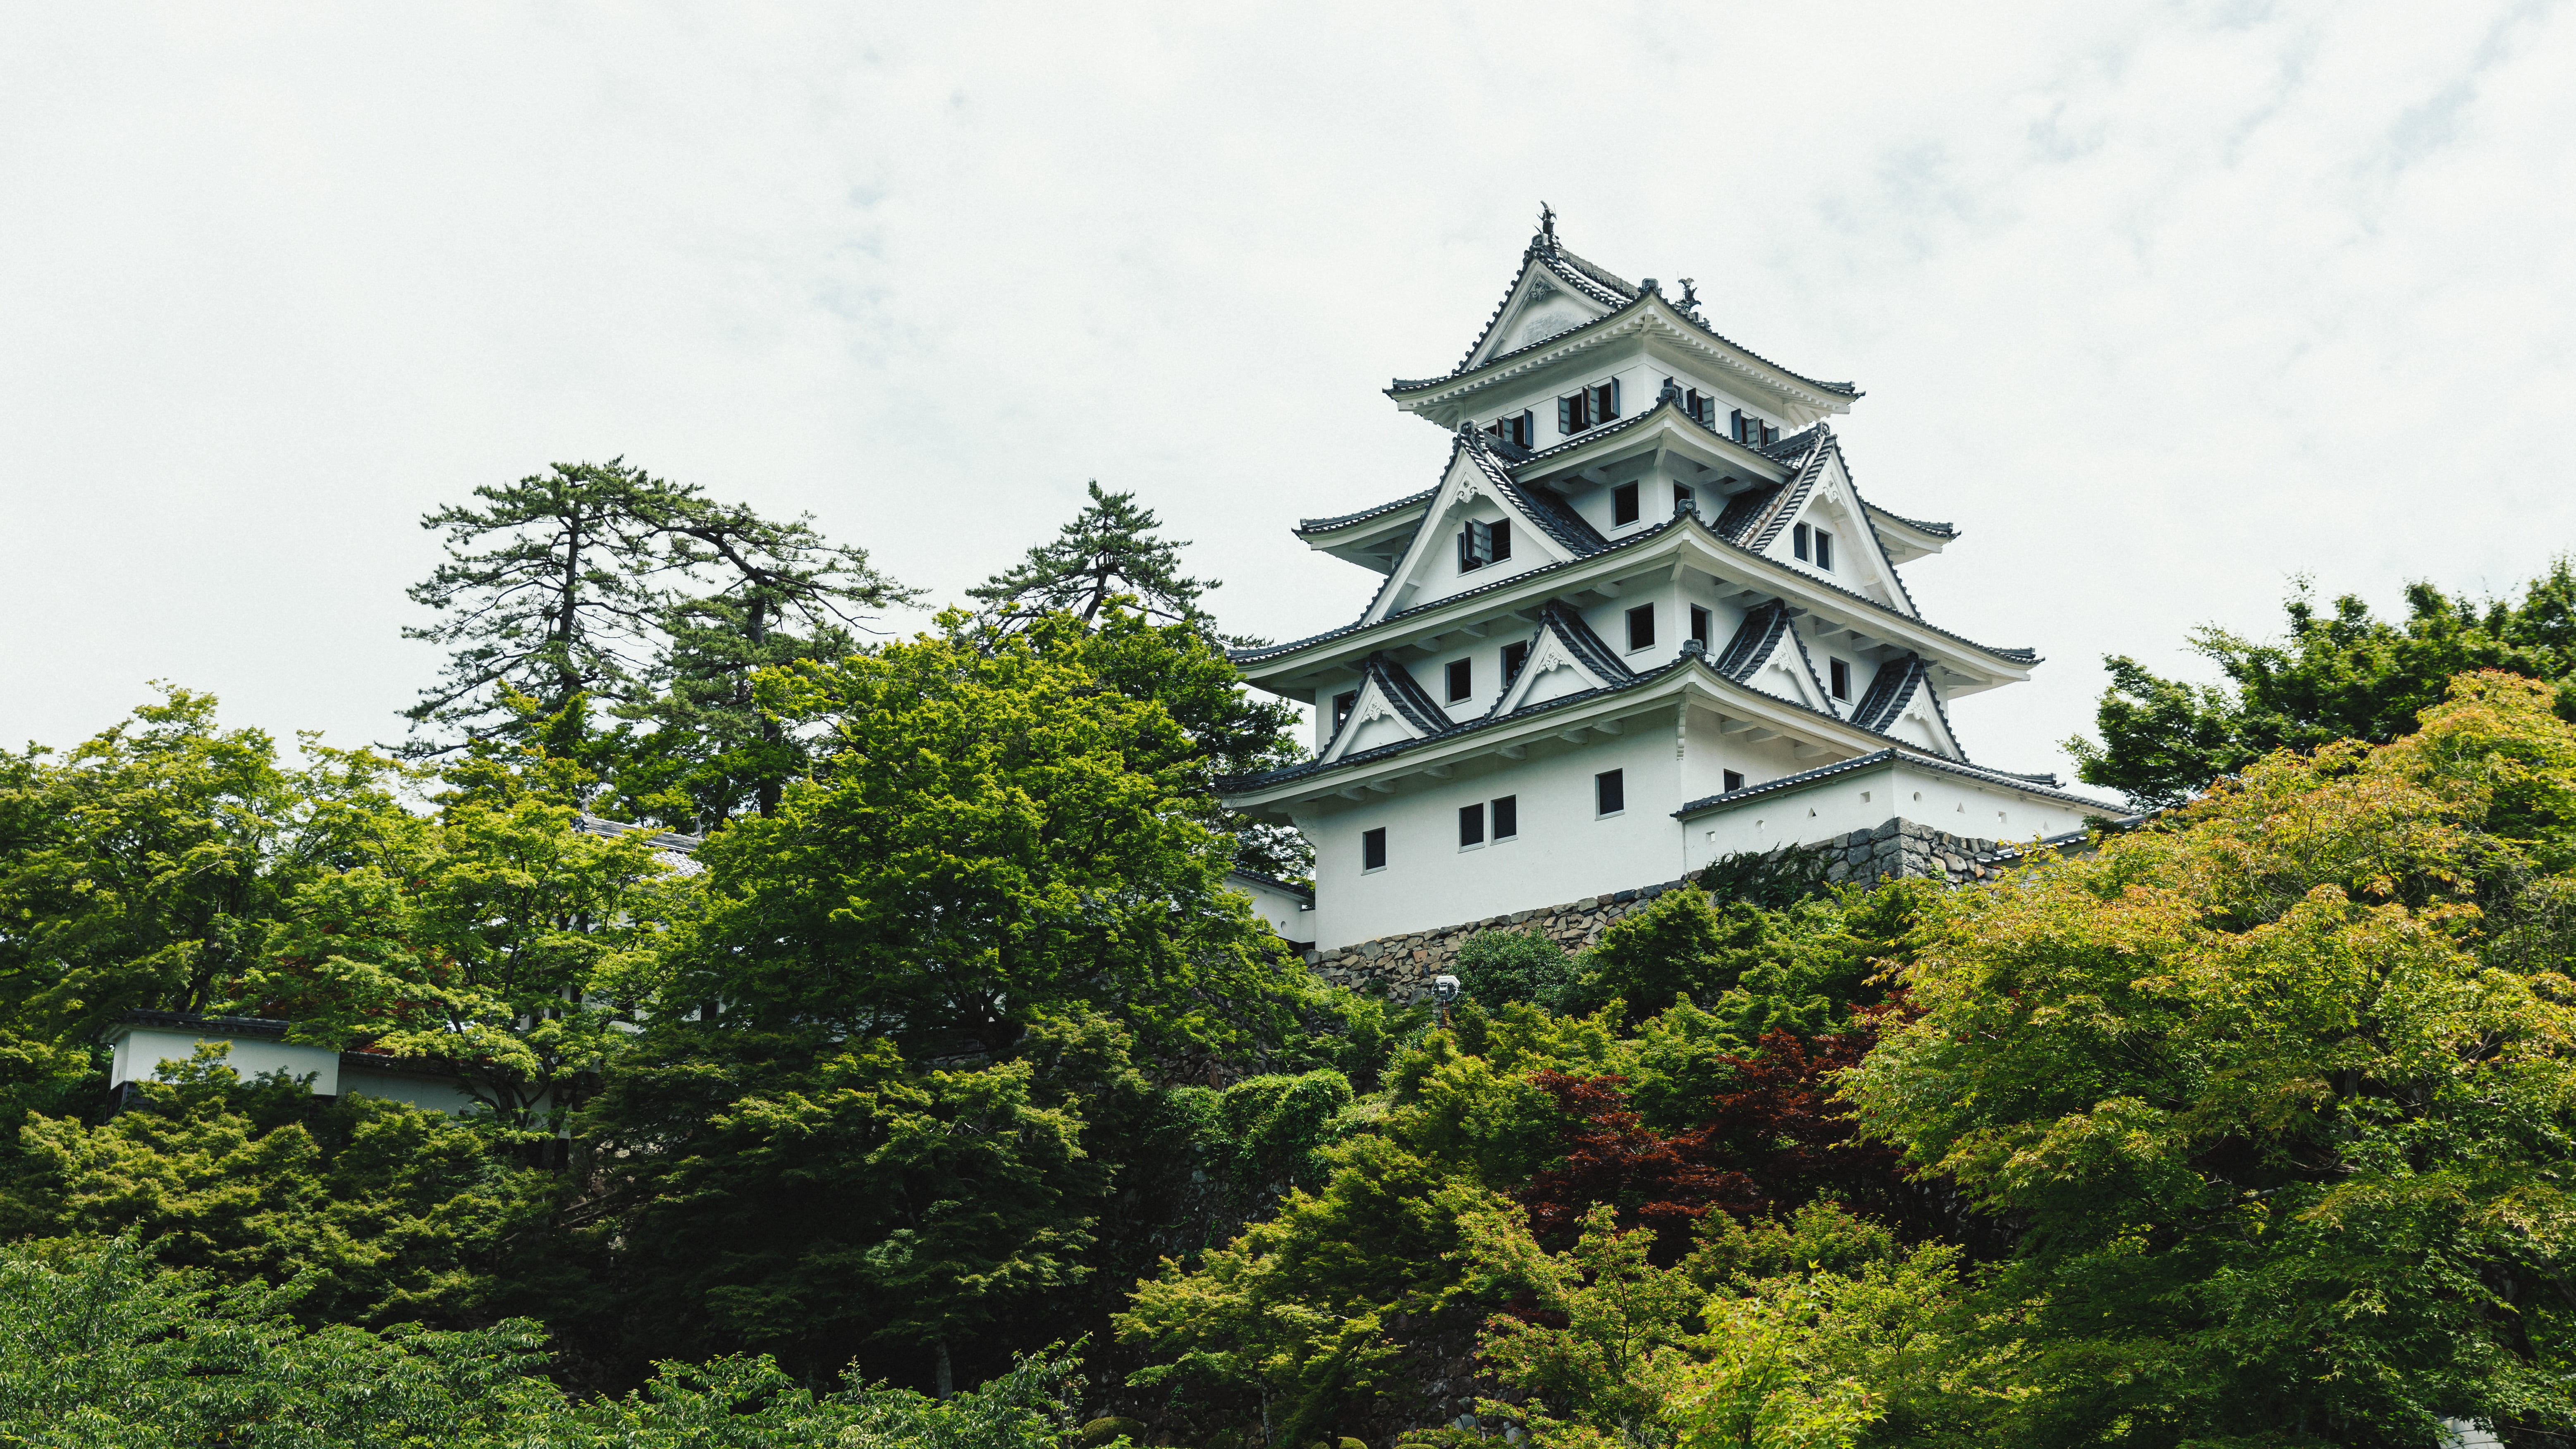
M 2138 810 L 2192 799 L 2213 779 L 2272 750 L 2331 740 L 2388 743 L 2439 704 L 2452 676 L 2506 670 L 2558 686 L 2558 714 L 2576 719 L 2576 572 L 2555 559 L 2519 601 L 2478 603 L 2429 583 L 2406 585 L 2406 619 L 2370 614 L 2354 596 L 2318 608 L 2306 580 L 2282 603 L 2287 639 L 2264 642 L 2205 624 L 2190 650 L 2226 686 L 2161 678 L 2110 655 L 2110 688 L 2094 714 L 2102 740 L 2069 740 L 2079 776 L 2128 794 Z

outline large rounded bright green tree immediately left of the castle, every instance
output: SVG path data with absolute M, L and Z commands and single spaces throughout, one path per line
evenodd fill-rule
M 1311 993 L 1224 890 L 1188 735 L 1103 688 L 1069 619 L 989 647 L 894 642 L 762 691 L 817 732 L 814 779 L 698 853 L 677 1003 L 951 1052 L 1087 1000 L 1167 1049 L 1252 1044 Z

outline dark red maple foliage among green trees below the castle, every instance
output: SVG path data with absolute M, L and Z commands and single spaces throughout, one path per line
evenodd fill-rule
M 1646 1127 L 1628 1109 L 1623 1078 L 1533 1075 L 1564 1111 L 1564 1160 L 1520 1189 L 1530 1230 L 1540 1243 L 1571 1243 L 1584 1209 L 1607 1201 L 1623 1227 L 1654 1227 L 1656 1258 L 1669 1261 L 1708 1209 L 1788 1214 L 1832 1196 L 1906 1214 L 1914 1191 L 1896 1173 L 1896 1152 L 1855 1140 L 1852 1119 L 1829 1098 L 1826 1078 L 1860 1062 L 1873 1039 L 1868 1021 L 1814 1042 L 1772 1031 L 1752 1057 L 1728 1060 L 1734 1083 L 1682 1132 Z

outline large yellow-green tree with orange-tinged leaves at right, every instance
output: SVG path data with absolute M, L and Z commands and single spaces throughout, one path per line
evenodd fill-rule
M 2393 745 L 2246 766 L 2172 828 L 1937 902 L 1850 1078 L 2025 1225 L 2014 1441 L 2566 1434 L 2576 730 L 2452 686 Z

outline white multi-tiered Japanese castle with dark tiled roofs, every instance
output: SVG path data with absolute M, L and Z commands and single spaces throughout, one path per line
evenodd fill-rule
M 1314 761 L 1224 781 L 1316 851 L 1298 936 L 1350 946 L 1687 877 L 1891 820 L 2030 841 L 2105 807 L 1976 766 L 1945 704 L 2032 650 L 1929 624 L 1896 567 L 1950 523 L 1852 482 L 1860 389 L 1569 253 L 1553 214 L 1466 358 L 1386 394 L 1435 487 L 1296 536 L 1383 575 L 1350 624 L 1234 655 L 1314 704 Z

